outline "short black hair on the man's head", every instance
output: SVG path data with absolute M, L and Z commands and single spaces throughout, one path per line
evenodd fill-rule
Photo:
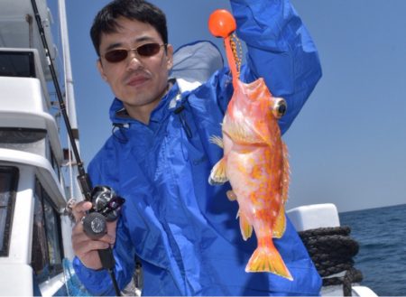
M 144 0 L 114 0 L 98 12 L 90 29 L 90 37 L 98 56 L 101 35 L 117 32 L 119 17 L 151 24 L 161 35 L 163 43 L 168 43 L 166 16 L 160 8 Z

